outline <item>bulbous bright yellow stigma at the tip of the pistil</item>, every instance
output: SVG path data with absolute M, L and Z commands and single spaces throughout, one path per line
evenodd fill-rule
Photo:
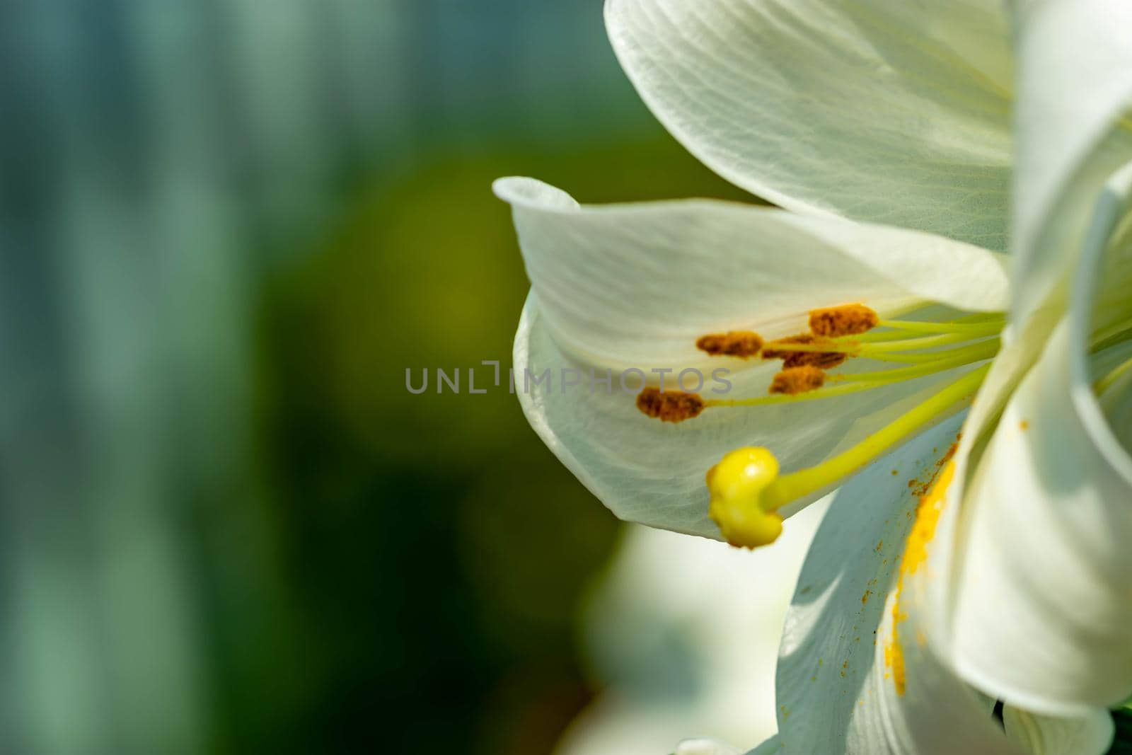
M 774 454 L 752 447 L 728 453 L 707 470 L 707 515 L 730 544 L 757 548 L 774 542 L 782 532 L 782 517 L 769 509 L 762 496 L 778 470 Z

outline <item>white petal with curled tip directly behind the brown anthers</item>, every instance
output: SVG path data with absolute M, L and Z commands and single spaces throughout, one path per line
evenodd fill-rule
M 778 337 L 804 331 L 815 307 L 854 301 L 883 311 L 934 295 L 994 309 L 1006 298 L 997 256 L 912 231 L 713 201 L 586 208 L 528 179 L 501 181 L 497 191 L 515 206 L 533 289 L 515 337 L 523 410 L 615 514 L 652 526 L 718 537 L 703 475 L 723 454 L 763 445 L 784 470 L 817 464 L 952 376 L 843 398 L 709 410 L 670 424 L 637 411 L 638 376 L 626 372 L 623 386 L 617 371 L 672 369 L 671 386 L 680 370 L 696 368 L 702 391 L 695 375 L 684 387 L 711 397 L 723 389 L 712 379 L 722 369 L 728 396 L 756 396 L 777 366 L 705 361 L 696 337 L 747 328 Z M 547 370 L 550 389 L 525 379 Z M 564 375 L 581 385 L 564 386 Z M 610 381 L 595 381 L 602 377 Z

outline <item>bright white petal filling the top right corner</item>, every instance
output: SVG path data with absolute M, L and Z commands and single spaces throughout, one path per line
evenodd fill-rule
M 1014 319 L 1064 303 L 1101 186 L 1132 160 L 1132 5 L 1048 0 L 1019 10 Z

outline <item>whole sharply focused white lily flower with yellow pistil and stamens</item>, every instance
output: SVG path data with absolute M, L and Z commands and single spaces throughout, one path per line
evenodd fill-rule
M 532 282 L 516 370 L 670 380 L 635 406 L 618 377 L 520 391 L 532 426 L 618 516 L 737 544 L 856 474 L 799 581 L 767 752 L 1104 752 L 1103 706 L 1132 692 L 1132 7 L 609 0 L 607 20 L 666 126 L 800 214 L 497 183 Z M 722 363 L 726 397 L 671 383 Z

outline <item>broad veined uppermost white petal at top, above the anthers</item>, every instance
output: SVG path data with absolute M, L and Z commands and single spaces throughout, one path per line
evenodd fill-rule
M 645 103 L 788 209 L 1005 246 L 1012 55 L 997 2 L 607 0 Z

